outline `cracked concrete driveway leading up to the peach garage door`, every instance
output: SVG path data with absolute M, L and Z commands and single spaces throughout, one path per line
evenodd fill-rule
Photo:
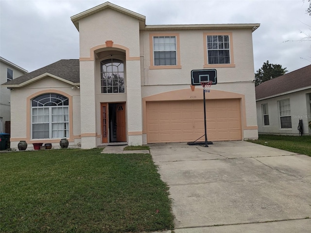
M 311 232 L 311 157 L 244 141 L 149 146 L 175 233 Z

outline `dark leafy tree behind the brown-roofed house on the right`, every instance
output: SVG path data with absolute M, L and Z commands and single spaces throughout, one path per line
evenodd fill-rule
M 284 75 L 286 72 L 286 67 L 282 68 L 281 65 L 270 64 L 269 61 L 264 62 L 262 67 L 255 74 L 255 86 L 258 86 L 259 84 L 270 79 Z

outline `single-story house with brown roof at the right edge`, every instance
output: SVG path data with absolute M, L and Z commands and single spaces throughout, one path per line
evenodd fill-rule
M 259 133 L 311 134 L 311 65 L 261 83 L 256 88 Z

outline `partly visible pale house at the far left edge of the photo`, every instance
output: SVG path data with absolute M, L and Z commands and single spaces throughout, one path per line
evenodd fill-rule
M 0 84 L 6 83 L 17 77 L 27 74 L 28 71 L 14 63 L 0 57 Z M 0 133 L 10 133 L 9 124 L 5 130 L 5 122 L 11 119 L 10 89 L 0 88 Z

